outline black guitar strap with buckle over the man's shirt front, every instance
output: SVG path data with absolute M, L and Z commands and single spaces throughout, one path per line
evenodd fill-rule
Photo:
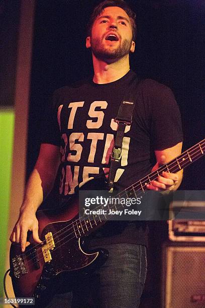
M 111 164 L 108 179 L 108 186 L 110 191 L 113 191 L 116 172 L 118 170 L 118 167 L 120 166 L 125 128 L 127 125 L 131 125 L 132 123 L 132 115 L 137 100 L 137 89 L 139 83 L 140 80 L 135 75 L 134 79 L 131 82 L 131 85 L 124 93 L 123 99 L 118 109 L 117 117 L 114 120 L 116 123 L 118 123 L 118 128 L 110 158 Z

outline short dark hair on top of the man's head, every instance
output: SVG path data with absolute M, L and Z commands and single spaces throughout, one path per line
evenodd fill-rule
M 128 14 L 130 18 L 130 22 L 131 22 L 131 27 L 132 27 L 133 40 L 135 40 L 136 30 L 137 30 L 137 26 L 135 23 L 136 14 L 131 10 L 131 8 L 128 6 L 128 4 L 124 0 L 105 0 L 101 2 L 100 4 L 98 4 L 98 6 L 94 8 L 90 16 L 90 19 L 87 25 L 87 35 L 88 36 L 91 35 L 92 25 L 96 17 L 99 16 L 104 11 L 104 9 L 108 7 L 119 7 Z

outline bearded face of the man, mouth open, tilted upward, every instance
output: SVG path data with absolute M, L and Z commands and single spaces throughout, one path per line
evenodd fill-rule
M 96 58 L 118 60 L 134 52 L 132 27 L 127 13 L 119 7 L 108 7 L 95 19 L 91 36 L 86 39 Z

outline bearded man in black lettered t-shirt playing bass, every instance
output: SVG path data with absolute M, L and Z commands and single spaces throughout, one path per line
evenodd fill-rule
M 136 75 L 129 53 L 135 50 L 135 14 L 123 0 L 102 2 L 92 13 L 86 47 L 91 49 L 94 76 L 53 95 L 54 110 L 42 133 L 39 157 L 32 172 L 11 241 L 27 242 L 28 230 L 38 236 L 36 210 L 50 192 L 60 164 L 60 194 L 65 198 L 90 178 L 105 177 L 117 124 L 114 122 L 125 90 Z M 123 189 L 156 170 L 181 152 L 180 115 L 171 91 L 152 80 L 138 85 L 133 122 L 125 129 L 121 166 L 115 186 Z M 154 148 L 155 166 L 151 166 Z M 150 190 L 175 190 L 182 172 L 164 172 L 147 184 Z M 75 307 L 138 307 L 146 279 L 147 227 L 143 222 L 108 222 L 91 235 L 90 247 L 109 250 L 86 292 L 83 282 L 73 286 Z M 88 281 L 89 282 L 89 281 Z M 96 294 L 98 299 L 96 298 Z M 91 298 L 91 301 L 90 301 Z M 58 305 L 59 306 L 59 305 Z

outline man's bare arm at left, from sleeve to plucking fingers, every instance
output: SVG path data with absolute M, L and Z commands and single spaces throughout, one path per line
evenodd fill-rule
M 28 230 L 33 233 L 34 241 L 41 243 L 36 211 L 53 187 L 59 163 L 60 148 L 53 144 L 41 144 L 38 160 L 26 186 L 19 219 L 10 237 L 11 242 L 21 244 L 22 252 L 30 244 L 27 242 Z

